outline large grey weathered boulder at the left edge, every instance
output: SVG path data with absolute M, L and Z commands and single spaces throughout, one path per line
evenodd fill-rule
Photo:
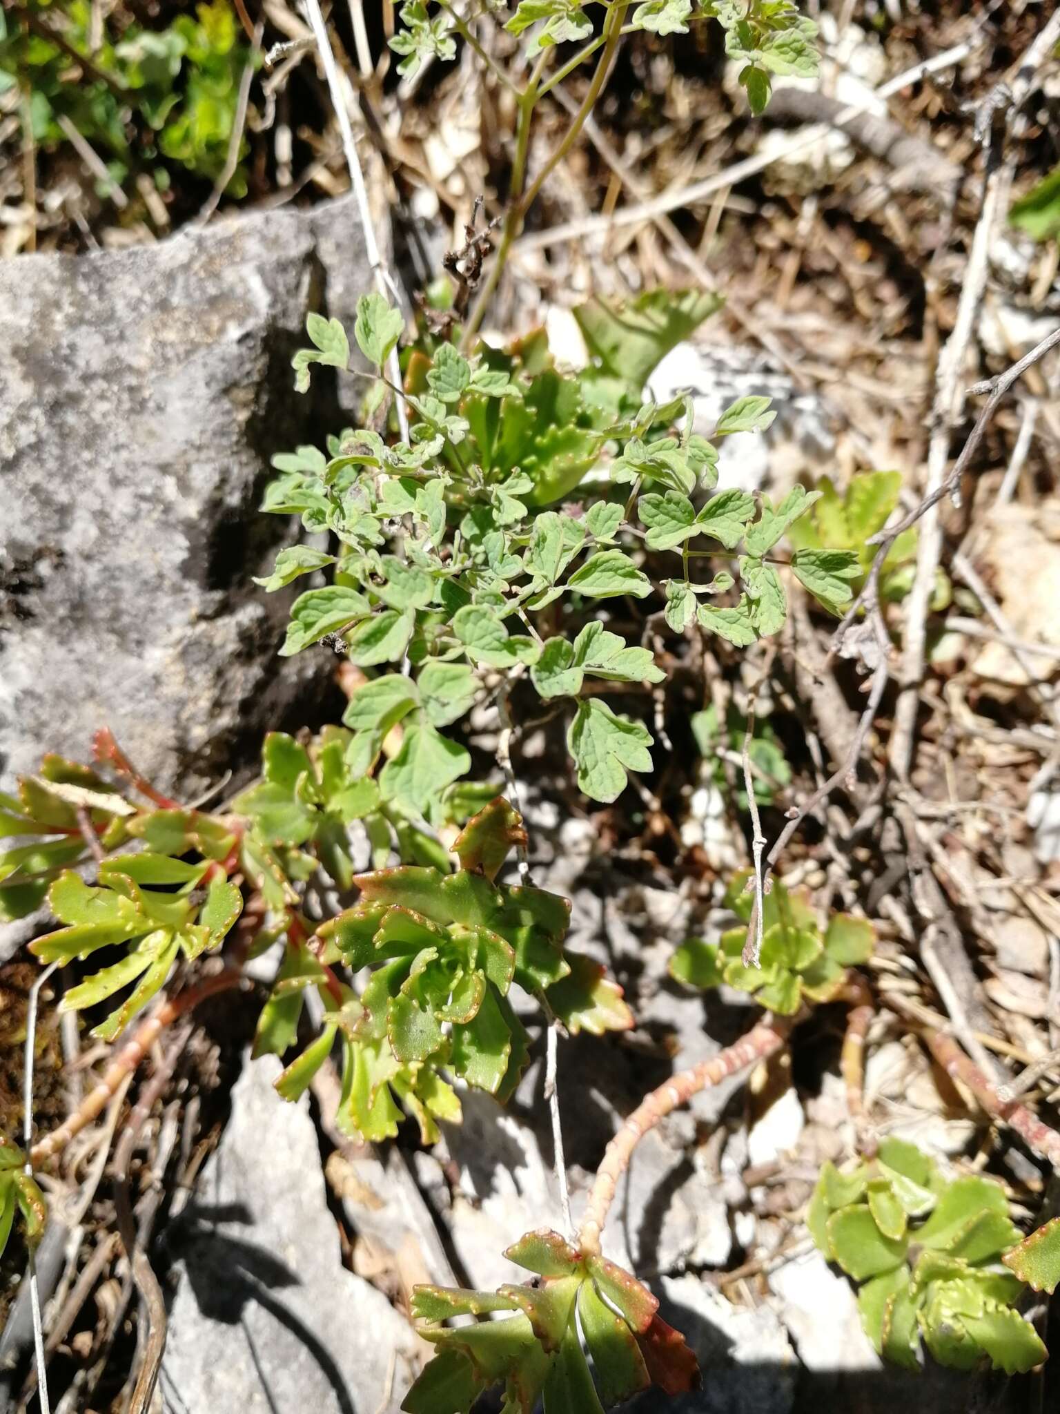
M 109 725 L 192 796 L 322 715 L 326 655 L 276 658 L 297 587 L 250 583 L 293 527 L 256 508 L 274 451 L 343 426 L 334 380 L 294 392 L 305 314 L 352 325 L 369 281 L 352 199 L 0 263 L 4 786 Z

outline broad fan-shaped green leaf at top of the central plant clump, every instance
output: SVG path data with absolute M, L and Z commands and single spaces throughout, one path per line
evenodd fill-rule
M 707 290 L 649 290 L 625 303 L 591 298 L 574 317 L 602 368 L 639 396 L 656 366 L 724 304 Z

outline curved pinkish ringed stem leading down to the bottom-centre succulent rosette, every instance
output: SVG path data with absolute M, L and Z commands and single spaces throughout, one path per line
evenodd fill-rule
M 794 1017 L 765 1017 L 756 1027 L 734 1045 L 704 1060 L 691 1070 L 671 1076 L 666 1085 L 644 1096 L 640 1104 L 626 1118 L 622 1128 L 608 1144 L 603 1161 L 596 1169 L 596 1181 L 589 1193 L 589 1202 L 578 1233 L 578 1246 L 585 1253 L 598 1253 L 603 1223 L 615 1199 L 615 1189 L 622 1174 L 629 1167 L 633 1150 L 671 1110 L 685 1104 L 700 1090 L 721 1085 L 731 1075 L 745 1070 L 756 1060 L 779 1051 L 794 1025 Z

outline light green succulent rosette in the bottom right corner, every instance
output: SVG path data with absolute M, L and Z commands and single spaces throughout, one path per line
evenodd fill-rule
M 947 1181 L 913 1144 L 886 1138 L 869 1164 L 824 1165 L 806 1222 L 824 1256 L 861 1284 L 862 1325 L 889 1360 L 917 1369 L 921 1339 L 940 1365 L 961 1370 L 987 1356 L 1013 1374 L 1046 1359 L 1013 1309 L 1023 1282 L 1001 1261 L 1011 1266 L 1019 1230 L 992 1179 Z

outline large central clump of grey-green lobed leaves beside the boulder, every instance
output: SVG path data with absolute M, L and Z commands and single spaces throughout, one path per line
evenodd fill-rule
M 546 700 L 571 700 L 567 745 L 588 796 L 615 800 L 629 771 L 649 771 L 649 728 L 584 691 L 592 680 L 663 677 L 646 648 L 592 617 L 601 601 L 659 595 L 673 632 L 697 624 L 746 648 L 783 626 L 782 573 L 828 604 L 849 598 L 854 550 L 773 553 L 815 492 L 796 486 L 776 508 L 743 491 L 709 495 L 714 441 L 767 427 L 767 399 L 734 403 L 714 441 L 691 431 L 687 399 L 639 402 L 657 359 L 712 307 L 678 297 L 680 312 L 664 314 L 657 298 L 642 298 L 637 337 L 623 345 L 612 334 L 619 315 L 596 301 L 579 311 L 598 351 L 582 375 L 560 370 L 541 335 L 471 356 L 428 337 L 407 361 L 403 390 L 382 372 L 401 320 L 380 296 L 360 300 L 356 344 L 379 370 L 370 404 L 380 387 L 403 397 L 410 440 L 363 428 L 329 438 L 329 455 L 300 447 L 274 457 L 280 477 L 263 509 L 301 515 L 307 532 L 331 532 L 339 550 L 284 550 L 264 587 L 332 571 L 331 585 L 295 601 L 284 653 L 338 635 L 360 667 L 407 662 L 407 673 L 384 673 L 355 694 L 345 717 L 355 731 L 348 759 L 360 773 L 379 761 L 386 732 L 406 725 L 401 755 L 379 772 L 384 803 L 437 820 L 442 793 L 469 768 L 440 728 L 520 676 Z M 311 315 L 308 331 L 314 346 L 294 358 L 302 389 L 314 363 L 351 361 L 336 320 Z M 551 509 L 557 501 L 563 508 Z M 704 540 L 714 547 L 693 549 Z M 661 577 L 661 556 L 680 557 L 681 573 Z M 739 587 L 729 570 L 693 580 L 702 560 L 729 563 Z

